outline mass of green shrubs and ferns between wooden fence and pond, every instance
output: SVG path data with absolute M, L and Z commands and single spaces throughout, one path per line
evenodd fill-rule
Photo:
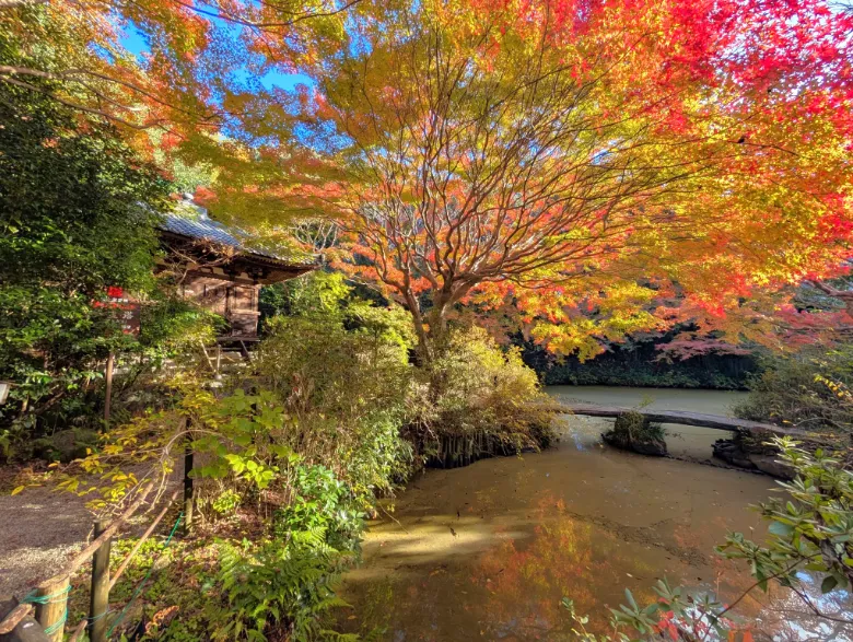
M 112 501 L 137 483 L 126 471 L 151 463 L 162 475 L 191 441 L 198 509 L 207 526 L 191 560 L 163 571 L 140 608 L 179 606 L 182 617 L 148 639 L 292 640 L 340 637 L 329 630 L 340 572 L 358 557 L 364 518 L 411 468 L 402 440 L 411 366 L 408 319 L 350 296 L 340 276 L 291 284 L 288 316 L 272 319 L 254 370 L 218 394 L 175 390 L 174 408 L 114 429 L 82 469 L 112 480 Z M 248 376 L 247 376 L 248 375 Z M 186 419 L 185 419 L 186 418 Z M 188 423 L 186 421 L 188 420 Z M 81 477 L 65 482 L 86 490 Z M 187 583 L 205 580 L 205 599 Z

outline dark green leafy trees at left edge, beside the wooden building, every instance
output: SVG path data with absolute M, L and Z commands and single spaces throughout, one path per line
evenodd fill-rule
M 0 61 L 27 63 L 8 34 Z M 28 82 L 51 89 L 49 80 Z M 47 93 L 2 83 L 0 122 L 0 380 L 14 384 L 0 409 L 0 455 L 25 459 L 39 454 L 34 437 L 100 428 L 109 352 L 127 357 L 120 393 L 142 355 L 209 338 L 213 319 L 154 279 L 156 212 L 172 190 L 154 166 L 112 127 Z M 108 287 L 142 300 L 140 337 L 124 335 L 116 311 L 102 305 Z

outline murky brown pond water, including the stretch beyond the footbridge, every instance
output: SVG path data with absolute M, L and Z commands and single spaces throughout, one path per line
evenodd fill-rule
M 553 386 L 564 400 L 726 413 L 740 393 Z M 344 577 L 353 606 L 344 628 L 382 628 L 379 640 L 571 640 L 560 606 L 574 599 L 606 629 L 608 607 L 654 599 L 659 577 L 723 602 L 752 584 L 713 547 L 727 530 L 762 538 L 748 510 L 774 481 L 764 476 L 601 445 L 612 420 L 571 417 L 557 447 L 429 470 L 397 498 L 393 517 L 371 524 L 363 564 Z M 670 452 L 710 459 L 723 431 L 669 427 Z M 843 597 L 843 596 L 842 596 Z M 849 597 L 849 596 L 848 596 Z M 827 604 L 828 608 L 840 605 Z M 797 599 L 771 587 L 740 603 L 757 618 L 756 639 L 852 640 L 813 620 Z

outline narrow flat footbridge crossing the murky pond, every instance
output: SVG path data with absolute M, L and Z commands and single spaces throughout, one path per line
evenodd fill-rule
M 648 408 L 620 408 L 618 406 L 599 406 L 597 404 L 559 404 L 558 408 L 571 415 L 585 415 L 587 417 L 619 417 L 624 412 L 639 412 L 650 421 L 658 423 L 681 423 L 685 425 L 700 425 L 737 432 L 750 432 L 753 434 L 773 433 L 793 437 L 807 437 L 809 433 L 794 428 L 782 428 L 773 423 L 723 417 L 722 415 L 708 415 L 705 412 L 688 412 L 685 410 L 653 410 Z

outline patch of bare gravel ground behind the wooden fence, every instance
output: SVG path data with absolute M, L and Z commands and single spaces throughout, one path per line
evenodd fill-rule
M 0 596 L 23 597 L 62 570 L 89 539 L 93 516 L 85 500 L 51 488 L 0 497 Z

